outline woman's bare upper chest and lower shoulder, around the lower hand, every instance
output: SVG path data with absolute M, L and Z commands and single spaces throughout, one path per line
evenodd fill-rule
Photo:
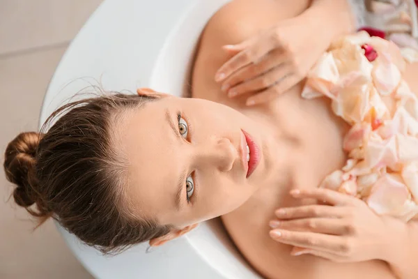
M 226 229 L 247 260 L 267 278 L 393 278 L 382 262 L 336 264 L 318 257 L 293 257 L 290 246 L 270 239 L 268 223 L 276 209 L 316 203 L 293 199 L 289 191 L 318 187 L 346 160 L 341 146 L 347 126 L 332 114 L 325 99 L 302 100 L 299 94 L 300 88 L 278 98 L 269 114 L 292 142 L 286 153 L 285 178 L 261 186 L 247 203 L 222 216 Z

